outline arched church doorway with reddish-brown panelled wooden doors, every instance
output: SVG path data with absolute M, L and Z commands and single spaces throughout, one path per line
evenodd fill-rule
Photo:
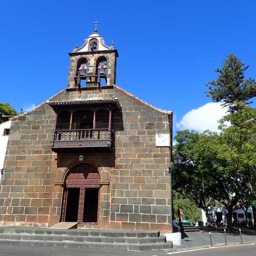
M 98 222 L 100 175 L 91 164 L 79 164 L 66 177 L 61 221 Z

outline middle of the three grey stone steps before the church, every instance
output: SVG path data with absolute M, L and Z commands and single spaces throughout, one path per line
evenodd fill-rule
M 63 242 L 91 242 L 91 243 L 118 243 L 118 244 L 149 244 L 166 242 L 164 236 L 158 238 L 114 238 L 93 236 L 68 236 L 66 234 L 27 234 L 27 233 L 2 233 L 0 240 L 22 240 L 22 241 L 63 241 Z

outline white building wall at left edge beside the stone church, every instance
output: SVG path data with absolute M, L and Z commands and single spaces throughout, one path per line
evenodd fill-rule
M 5 154 L 7 148 L 7 142 L 9 138 L 9 132 L 11 127 L 11 121 L 7 121 L 0 124 L 0 170 L 4 167 Z M 0 180 L 2 175 L 0 174 Z

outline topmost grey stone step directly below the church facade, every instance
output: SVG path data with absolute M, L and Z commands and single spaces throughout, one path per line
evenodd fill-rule
M 156 230 L 117 230 L 117 229 L 48 229 L 29 227 L 0 227 L 0 233 L 27 234 L 63 234 L 68 236 L 93 236 L 114 238 L 157 238 L 160 232 Z

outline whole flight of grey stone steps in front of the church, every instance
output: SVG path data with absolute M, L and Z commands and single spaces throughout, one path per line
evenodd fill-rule
M 0 245 L 152 251 L 172 249 L 159 231 L 0 227 Z

